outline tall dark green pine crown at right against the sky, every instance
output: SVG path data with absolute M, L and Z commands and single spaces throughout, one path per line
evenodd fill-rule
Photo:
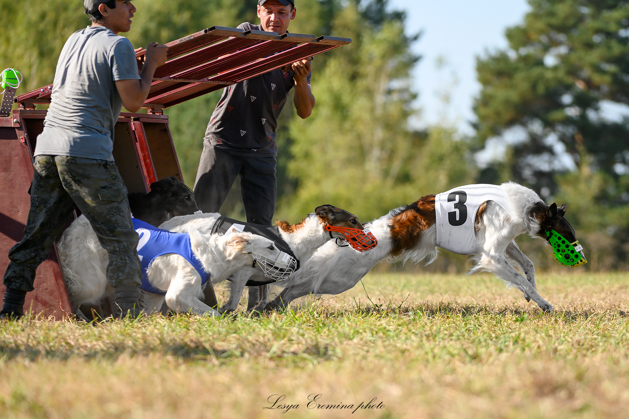
M 554 174 L 571 166 L 557 160 L 564 151 L 581 164 L 579 144 L 592 164 L 617 178 L 629 164 L 629 121 L 605 120 L 599 110 L 601 101 L 629 104 L 629 4 L 529 3 L 524 22 L 506 31 L 509 47 L 477 60 L 481 145 L 513 128 L 523 131 L 511 146 L 508 171 L 538 191 L 557 189 Z

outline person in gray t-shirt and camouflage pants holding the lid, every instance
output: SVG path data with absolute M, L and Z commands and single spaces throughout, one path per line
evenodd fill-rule
M 76 31 L 61 51 L 50 108 L 33 158 L 31 208 L 24 238 L 9 250 L 0 318 L 19 318 L 35 271 L 77 206 L 109 256 L 114 316 L 136 316 L 141 264 L 126 187 L 111 154 L 114 125 L 124 105 L 137 111 L 168 48 L 152 42 L 138 74 L 129 31 L 130 1 L 84 0 L 92 25 Z

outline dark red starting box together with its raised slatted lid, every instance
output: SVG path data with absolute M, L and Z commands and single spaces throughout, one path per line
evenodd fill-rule
M 243 31 L 212 26 L 169 42 L 166 64 L 155 71 L 143 108 L 148 114 L 121 113 L 116 123 L 113 155 L 130 193 L 148 192 L 152 182 L 167 176 L 183 181 L 170 135 L 169 106 L 222 89 L 284 65 L 352 42 L 348 38 L 299 33 Z M 142 59 L 145 51 L 137 53 Z M 140 64 L 141 65 L 141 64 Z M 24 237 L 30 209 L 28 187 L 33 179 L 33 150 L 43 130 L 47 111 L 36 104 L 50 103 L 52 84 L 14 99 L 19 109 L 0 112 L 0 272 L 9 264 L 8 252 Z M 208 109 L 211 111 L 212 109 Z M 201 122 L 199 122 L 201 123 Z M 68 224 L 78 215 L 68 220 Z M 0 292 L 4 286 L 0 284 Z M 211 284 L 206 286 L 206 303 L 216 306 Z M 97 311 L 99 308 L 97 308 Z M 35 291 L 26 294 L 25 311 L 61 320 L 72 315 L 57 248 L 53 246 L 37 269 Z M 82 310 L 86 315 L 89 310 Z M 103 307 L 103 312 L 106 314 Z M 100 313 L 99 313 L 100 314 Z

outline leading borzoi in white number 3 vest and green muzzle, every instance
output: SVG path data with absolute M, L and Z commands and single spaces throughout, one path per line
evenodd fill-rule
M 584 263 L 585 258 L 581 246 L 576 242 L 574 229 L 564 218 L 566 205 L 557 208 L 557 204 L 553 203 L 549 206 L 531 189 L 507 182 L 499 187 L 481 185 L 481 188 L 491 187 L 491 194 L 484 198 L 476 196 L 476 203 L 466 206 L 464 196 L 457 192 L 469 191 L 475 186 L 455 188 L 438 196 L 424 196 L 409 206 L 392 210 L 372 223 L 367 223 L 365 226 L 370 228 L 379 242 L 375 249 L 368 252 L 356 252 L 350 247 L 326 243 L 293 274 L 286 288 L 267 304 L 267 309 L 285 308 L 293 299 L 308 294 L 339 294 L 347 291 L 377 262 L 389 255 L 415 262 L 428 258 L 429 264 L 437 258 L 437 245 L 457 244 L 456 240 L 452 240 L 457 237 L 452 234 L 452 230 L 438 230 L 443 220 L 450 219 L 456 225 L 472 217 L 471 225 L 469 222 L 462 223 L 472 229 L 472 236 L 476 240 L 473 250 L 467 252 L 476 262 L 470 273 L 492 272 L 520 289 L 527 301 L 533 299 L 542 310 L 552 311 L 552 306 L 537 293 L 533 263 L 518 249 L 514 239 L 522 233 L 529 233 L 531 237 L 550 241 L 550 232 L 559 233 L 565 241 L 577 244 L 572 250 L 582 257 L 579 264 Z M 435 208 L 436 198 L 437 206 L 449 204 L 452 211 Z M 465 245 L 470 244 L 466 235 L 461 238 Z M 520 265 L 523 275 L 516 271 L 513 264 Z

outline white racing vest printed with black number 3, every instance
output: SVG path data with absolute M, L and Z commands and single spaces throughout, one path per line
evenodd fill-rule
M 474 220 L 485 201 L 494 201 L 509 213 L 503 189 L 498 185 L 459 186 L 435 196 L 437 246 L 461 255 L 478 252 Z

